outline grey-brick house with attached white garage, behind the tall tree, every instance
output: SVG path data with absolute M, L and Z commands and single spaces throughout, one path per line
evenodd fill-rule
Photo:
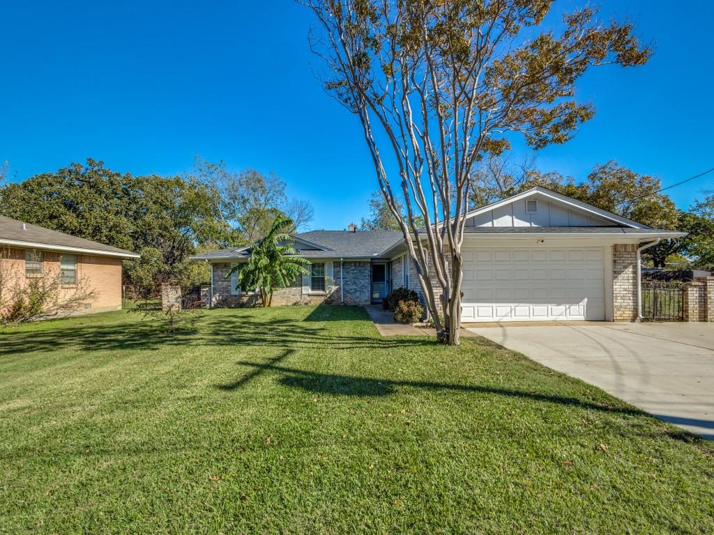
M 650 228 L 536 187 L 467 214 L 463 240 L 463 322 L 634 321 L 644 248 L 683 236 Z M 296 235 L 311 275 L 277 290 L 274 305 L 368 305 L 408 286 L 421 295 L 415 263 L 399 232 L 315 230 Z M 250 248 L 197 255 L 211 263 L 212 306 L 244 306 L 256 296 L 226 279 Z M 430 266 L 433 272 L 433 266 Z

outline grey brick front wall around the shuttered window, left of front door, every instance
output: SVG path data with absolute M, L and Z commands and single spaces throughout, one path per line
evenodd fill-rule
M 280 305 L 319 305 L 321 303 L 340 303 L 340 280 L 343 282 L 342 297 L 346 305 L 369 305 L 371 263 L 343 262 L 344 273 L 341 277 L 339 260 L 333 263 L 333 281 L 330 292 L 303 294 L 302 275 L 298 276 L 289 287 L 273 292 L 273 306 Z M 225 278 L 230 270 L 230 263 L 213 264 L 213 306 L 214 307 L 250 307 L 260 305 L 260 297 L 255 293 L 231 295 L 231 280 Z

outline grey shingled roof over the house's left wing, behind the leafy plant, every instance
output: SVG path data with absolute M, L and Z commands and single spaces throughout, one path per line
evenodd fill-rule
M 373 258 L 403 239 L 395 230 L 371 230 L 351 232 L 350 230 L 311 230 L 295 235 L 296 241 L 318 245 L 322 249 L 301 249 L 300 256 L 306 258 Z M 211 253 L 194 255 L 194 260 L 238 260 L 248 258 L 248 248 L 234 247 Z

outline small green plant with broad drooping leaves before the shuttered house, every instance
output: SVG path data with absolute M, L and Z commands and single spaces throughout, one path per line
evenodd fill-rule
M 294 225 L 293 221 L 278 215 L 265 237 L 251 247 L 248 263 L 236 264 L 226 274 L 229 278 L 238 271 L 238 287 L 258 290 L 263 307 L 271 306 L 276 288 L 288 287 L 301 273 L 309 274 L 305 266 L 310 262 L 293 256 L 297 254 L 290 233 Z

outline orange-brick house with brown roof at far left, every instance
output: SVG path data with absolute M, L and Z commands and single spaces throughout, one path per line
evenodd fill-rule
M 139 255 L 0 215 L 1 291 L 24 287 L 37 277 L 58 277 L 61 298 L 79 285 L 92 291 L 78 313 L 120 310 L 125 258 Z

